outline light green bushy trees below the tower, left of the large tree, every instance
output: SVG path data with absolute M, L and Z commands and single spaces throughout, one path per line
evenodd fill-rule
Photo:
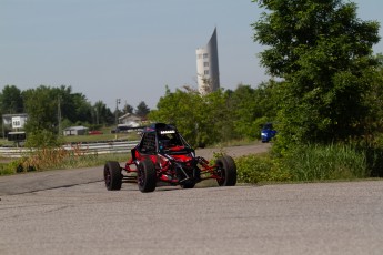
M 271 122 L 278 109 L 276 82 L 258 88 L 239 84 L 235 90 L 201 94 L 184 86 L 160 98 L 148 118 L 177 125 L 192 145 L 208 145 L 231 140 L 256 140 L 260 125 Z

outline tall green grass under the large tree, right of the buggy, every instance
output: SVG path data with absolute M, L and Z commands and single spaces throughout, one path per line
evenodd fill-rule
M 379 166 L 376 159 L 380 155 L 352 145 L 332 144 L 300 146 L 282 159 L 270 154 L 246 155 L 235 159 L 235 163 L 242 183 L 315 182 L 370 177 L 371 165 Z

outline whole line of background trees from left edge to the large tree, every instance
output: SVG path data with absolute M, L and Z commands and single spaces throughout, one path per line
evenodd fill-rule
M 275 85 L 273 81 L 262 83 L 256 89 L 240 84 L 234 91 L 222 89 L 205 96 L 188 86 L 174 92 L 167 88 L 158 109 L 150 111 L 141 102 L 137 109 L 127 104 L 117 114 L 134 113 L 149 121 L 175 124 L 193 145 L 233 139 L 255 140 L 260 125 L 275 119 Z M 112 112 L 102 101 L 91 104 L 84 94 L 73 93 L 72 88 L 65 85 L 40 85 L 26 91 L 16 85 L 6 85 L 0 93 L 0 104 L 1 114 L 28 113 L 26 130 L 29 137 L 31 134 L 52 136 L 48 141 L 53 140 L 59 129 L 71 125 L 98 130 L 115 124 L 115 110 Z

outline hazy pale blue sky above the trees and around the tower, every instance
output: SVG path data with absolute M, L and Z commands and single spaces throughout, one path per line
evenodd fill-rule
M 382 0 L 354 2 L 383 24 Z M 196 88 L 195 49 L 215 27 L 221 86 L 255 88 L 268 80 L 250 27 L 261 11 L 251 0 L 1 0 L 0 89 L 70 85 L 112 110 L 117 99 L 154 109 L 165 85 Z

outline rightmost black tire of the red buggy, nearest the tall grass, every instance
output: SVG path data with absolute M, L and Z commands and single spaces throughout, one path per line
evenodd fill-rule
M 215 162 L 218 169 L 216 174 L 220 178 L 216 180 L 220 186 L 235 186 L 236 184 L 236 165 L 233 157 L 224 155 L 219 157 Z

